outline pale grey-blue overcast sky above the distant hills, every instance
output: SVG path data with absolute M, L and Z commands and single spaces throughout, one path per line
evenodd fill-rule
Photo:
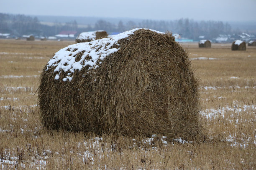
M 0 0 L 0 13 L 256 22 L 256 0 Z

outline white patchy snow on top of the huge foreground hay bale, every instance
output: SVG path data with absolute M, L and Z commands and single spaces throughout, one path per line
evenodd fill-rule
M 94 40 L 91 42 L 82 42 L 73 45 L 69 45 L 65 47 L 54 55 L 54 57 L 49 60 L 47 63 L 46 71 L 49 70 L 50 67 L 55 67 L 54 72 L 58 72 L 55 76 L 55 80 L 59 80 L 59 75 L 61 70 L 64 72 L 69 72 L 69 76 L 64 77 L 63 81 L 71 81 L 72 73 L 75 70 L 81 70 L 85 66 L 89 66 L 88 70 L 96 69 L 101 64 L 101 61 L 105 59 L 106 56 L 117 52 L 119 48 L 114 48 L 114 45 L 119 46 L 118 40 L 129 37 L 129 35 L 133 35 L 136 30 L 141 28 L 135 28 L 130 31 L 126 31 L 120 33 L 118 35 L 113 35 L 111 37 L 102 38 L 100 40 Z M 150 29 L 147 29 L 150 30 Z M 164 34 L 164 32 L 159 32 L 155 30 L 151 30 L 157 33 Z M 77 58 L 77 54 L 82 57 Z M 88 59 L 90 58 L 90 59 Z M 97 62 L 99 60 L 99 62 Z M 99 63 L 97 65 L 97 63 Z

